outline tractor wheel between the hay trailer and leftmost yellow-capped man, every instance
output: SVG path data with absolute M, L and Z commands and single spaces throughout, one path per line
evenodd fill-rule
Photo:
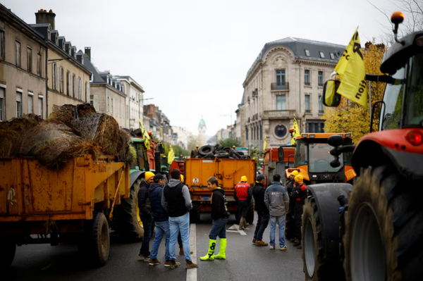
M 116 222 L 116 232 L 128 239 L 138 239 L 144 237 L 144 228 L 140 218 L 140 208 L 138 207 L 138 191 L 143 179 L 136 180 L 130 187 L 130 197 L 122 199 L 114 211 L 114 221 Z

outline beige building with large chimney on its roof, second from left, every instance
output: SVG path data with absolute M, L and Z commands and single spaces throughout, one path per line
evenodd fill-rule
M 30 26 L 48 47 L 46 116 L 55 106 L 89 102 L 91 71 L 84 66 L 83 56 L 78 56 L 76 46 L 59 35 L 53 11 L 39 10 L 35 18 L 36 24 Z

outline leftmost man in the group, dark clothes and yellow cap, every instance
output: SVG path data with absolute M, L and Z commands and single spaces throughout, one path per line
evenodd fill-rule
M 153 235 L 154 219 L 152 216 L 152 207 L 149 201 L 149 185 L 154 181 L 152 172 L 145 172 L 145 180 L 142 180 L 140 191 L 138 192 L 138 207 L 140 208 L 140 218 L 144 227 L 144 238 L 142 239 L 140 254 L 138 260 L 149 262 L 149 240 Z

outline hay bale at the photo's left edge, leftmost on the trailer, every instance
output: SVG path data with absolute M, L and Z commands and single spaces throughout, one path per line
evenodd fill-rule
M 30 113 L 0 122 L 0 157 L 12 157 L 18 154 L 22 136 L 42 121 L 43 119 L 38 115 Z

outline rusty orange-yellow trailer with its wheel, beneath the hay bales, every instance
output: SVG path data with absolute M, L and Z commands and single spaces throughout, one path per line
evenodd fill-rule
M 46 168 L 36 158 L 0 158 L 0 267 L 16 245 L 77 242 L 90 261 L 109 257 L 109 220 L 130 197 L 130 167 L 103 156 L 70 158 Z

